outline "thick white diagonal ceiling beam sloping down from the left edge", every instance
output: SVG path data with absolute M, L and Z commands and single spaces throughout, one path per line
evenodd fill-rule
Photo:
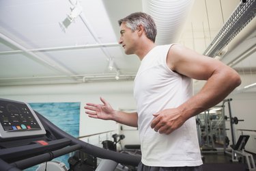
M 49 62 L 47 62 L 46 60 L 43 60 L 42 57 L 40 57 L 39 55 L 36 55 L 35 53 L 31 52 L 31 51 L 27 51 L 27 49 L 25 47 L 23 47 L 21 44 L 18 44 L 18 42 L 12 40 L 11 38 L 8 38 L 8 36 L 5 36 L 4 34 L 0 33 L 0 38 L 2 38 L 3 40 L 5 40 L 6 42 L 9 42 L 10 44 L 14 45 L 15 47 L 17 47 L 18 49 L 20 49 L 21 51 L 29 54 L 31 57 L 31 60 L 34 60 L 44 66 L 47 66 L 48 68 L 51 68 L 53 70 L 57 70 L 60 73 L 65 74 L 66 76 L 70 77 L 70 75 L 74 75 L 74 73 L 70 72 L 70 70 L 67 70 L 66 68 L 63 68 L 63 66 L 59 66 L 59 64 L 51 64 Z M 58 65 L 58 66 L 57 66 Z M 72 77 L 70 77 L 72 78 Z

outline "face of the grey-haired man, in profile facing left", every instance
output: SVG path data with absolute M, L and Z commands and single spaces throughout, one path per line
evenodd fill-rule
M 138 37 L 137 30 L 132 32 L 130 28 L 126 27 L 125 23 L 122 23 L 120 25 L 120 34 L 119 44 L 124 48 L 126 55 L 134 54 L 134 44 Z

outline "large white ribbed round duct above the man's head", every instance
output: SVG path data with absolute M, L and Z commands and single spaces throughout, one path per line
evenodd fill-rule
M 150 14 L 156 23 L 156 44 L 177 41 L 193 3 L 194 0 L 142 0 L 143 12 Z

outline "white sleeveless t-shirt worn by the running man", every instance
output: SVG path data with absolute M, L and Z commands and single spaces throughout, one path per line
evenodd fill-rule
M 169 135 L 160 134 L 150 127 L 153 114 L 177 107 L 193 95 L 192 79 L 167 66 L 171 45 L 157 46 L 147 53 L 134 79 L 141 161 L 146 166 L 200 166 L 195 117 L 186 120 L 182 127 Z

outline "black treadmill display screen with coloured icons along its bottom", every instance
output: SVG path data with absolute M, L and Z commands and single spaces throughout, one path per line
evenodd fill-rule
M 28 131 L 41 129 L 25 103 L 0 100 L 0 121 L 4 131 Z

